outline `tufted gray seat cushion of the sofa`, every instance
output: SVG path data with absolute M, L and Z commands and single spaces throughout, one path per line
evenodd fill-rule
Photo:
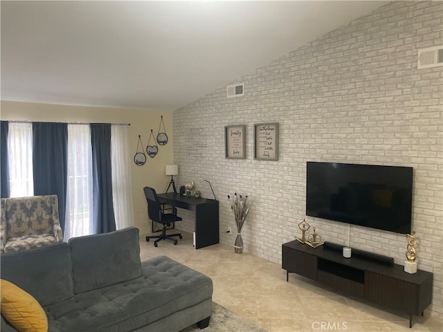
M 164 256 L 142 266 L 142 277 L 47 306 L 49 331 L 134 331 L 202 303 L 210 316 L 209 277 Z

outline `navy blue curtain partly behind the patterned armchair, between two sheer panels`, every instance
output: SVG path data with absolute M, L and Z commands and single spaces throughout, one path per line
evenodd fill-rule
M 33 122 L 34 194 L 58 196 L 62 230 L 66 212 L 67 160 L 68 124 Z

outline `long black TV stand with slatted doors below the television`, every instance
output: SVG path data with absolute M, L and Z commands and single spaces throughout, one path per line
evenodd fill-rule
M 299 241 L 282 245 L 282 268 L 316 280 L 349 295 L 405 311 L 409 327 L 413 315 L 423 315 L 432 300 L 433 274 L 423 270 L 409 274 L 391 257 L 352 249 L 352 257 L 342 255 L 343 246 L 325 243 L 312 248 Z

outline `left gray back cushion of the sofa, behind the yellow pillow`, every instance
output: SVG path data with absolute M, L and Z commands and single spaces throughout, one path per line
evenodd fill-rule
M 68 243 L 1 254 L 0 267 L 2 279 L 33 295 L 42 306 L 73 296 Z

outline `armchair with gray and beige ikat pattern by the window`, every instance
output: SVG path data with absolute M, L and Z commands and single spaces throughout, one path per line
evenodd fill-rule
M 0 241 L 2 253 L 62 242 L 57 195 L 1 199 Z

